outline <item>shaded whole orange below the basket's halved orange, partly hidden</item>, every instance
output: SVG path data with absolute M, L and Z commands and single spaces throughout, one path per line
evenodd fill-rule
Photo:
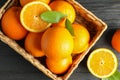
M 25 39 L 25 50 L 27 50 L 34 57 L 44 56 L 40 44 L 42 35 L 43 33 L 30 32 Z

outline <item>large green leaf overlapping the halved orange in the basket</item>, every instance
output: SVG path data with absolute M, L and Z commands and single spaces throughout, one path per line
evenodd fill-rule
M 65 14 L 58 11 L 46 11 L 40 15 L 41 19 L 49 23 L 58 23 L 65 16 Z

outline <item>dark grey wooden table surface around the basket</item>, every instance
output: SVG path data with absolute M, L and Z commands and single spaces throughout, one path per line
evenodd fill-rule
M 5 0 L 0 0 L 0 6 Z M 120 28 L 120 0 L 77 0 L 97 17 L 107 23 L 108 29 L 101 39 L 91 49 L 108 48 L 111 49 L 119 60 L 120 53 L 115 51 L 110 44 L 111 37 L 117 28 Z M 69 80 L 100 80 L 91 75 L 86 66 L 86 59 L 73 72 Z M 23 59 L 10 47 L 0 41 L 0 80 L 51 80 L 41 71 L 38 71 L 29 62 Z

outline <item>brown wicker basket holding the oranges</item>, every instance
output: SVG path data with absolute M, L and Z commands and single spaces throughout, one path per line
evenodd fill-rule
M 7 0 L 7 2 L 3 5 L 3 7 L 0 9 L 0 19 L 2 18 L 2 15 L 6 11 L 7 8 L 9 8 L 11 5 L 16 5 L 16 1 L 18 0 Z M 70 77 L 70 75 L 73 73 L 73 71 L 78 67 L 78 64 L 84 59 L 85 55 L 89 52 L 89 50 L 95 45 L 95 43 L 98 41 L 98 39 L 101 37 L 103 32 L 107 29 L 107 25 L 97 18 L 94 14 L 92 14 L 90 11 L 85 9 L 82 5 L 80 5 L 78 2 L 74 0 L 66 0 L 70 4 L 72 4 L 76 10 L 76 21 L 77 23 L 82 23 L 86 26 L 86 28 L 90 32 L 90 45 L 89 48 L 84 51 L 83 53 L 75 56 L 72 66 L 70 69 L 63 75 L 56 75 L 53 74 L 49 69 L 47 69 L 40 60 L 34 58 L 29 53 L 27 53 L 24 48 L 22 48 L 16 41 L 10 39 L 4 33 L 0 30 L 0 40 L 9 45 L 11 48 L 13 48 L 17 53 L 19 53 L 23 58 L 25 58 L 27 61 L 29 61 L 31 64 L 33 64 L 36 68 L 38 68 L 40 71 L 42 71 L 44 74 L 46 74 L 48 77 L 54 79 L 54 80 L 66 80 Z M 1 28 L 0 28 L 1 29 Z

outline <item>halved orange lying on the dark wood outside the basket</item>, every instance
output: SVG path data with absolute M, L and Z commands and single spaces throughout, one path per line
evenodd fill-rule
M 115 54 L 106 48 L 94 50 L 87 60 L 89 71 L 98 78 L 107 78 L 113 75 L 118 67 Z

